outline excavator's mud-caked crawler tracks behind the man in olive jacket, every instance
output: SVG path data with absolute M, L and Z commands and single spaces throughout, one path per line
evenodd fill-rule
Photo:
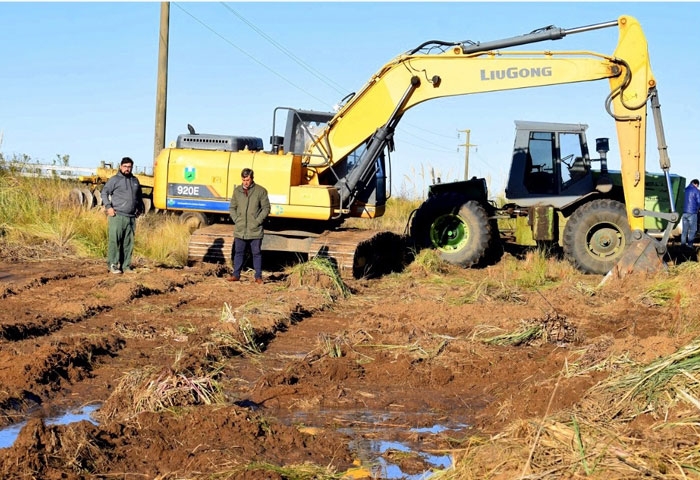
M 227 263 L 233 249 L 233 225 L 217 224 L 192 233 L 188 261 Z M 373 278 L 400 270 L 406 241 L 401 235 L 374 230 L 341 229 L 312 234 L 299 231 L 266 231 L 264 251 L 306 254 L 331 260 L 343 278 Z

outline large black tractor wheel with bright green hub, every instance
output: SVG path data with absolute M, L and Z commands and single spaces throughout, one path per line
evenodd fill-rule
M 411 222 L 417 248 L 435 248 L 447 263 L 471 267 L 484 257 L 491 240 L 488 215 L 479 202 L 457 193 L 426 200 Z

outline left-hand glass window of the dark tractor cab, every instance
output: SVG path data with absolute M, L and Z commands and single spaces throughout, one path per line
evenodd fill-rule
M 554 140 L 552 132 L 530 132 L 525 167 L 525 188 L 530 193 L 556 193 Z

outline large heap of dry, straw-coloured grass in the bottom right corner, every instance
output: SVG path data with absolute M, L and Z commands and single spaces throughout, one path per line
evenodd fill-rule
M 700 408 L 700 339 L 648 365 L 618 365 L 618 373 L 589 390 L 572 409 L 520 420 L 491 438 L 472 437 L 453 468 L 434 478 L 691 478 L 700 470 L 694 441 Z M 558 382 L 557 382 L 558 385 Z M 554 398 L 556 387 L 551 394 Z M 685 410 L 670 409 L 679 404 Z M 660 421 L 630 436 L 630 421 L 650 413 Z M 669 417 L 680 421 L 668 421 Z M 497 458 L 497 462 L 493 459 Z M 433 477 L 431 477 L 433 478 Z

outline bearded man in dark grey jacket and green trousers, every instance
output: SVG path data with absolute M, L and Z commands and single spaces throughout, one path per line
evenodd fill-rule
M 122 158 L 119 172 L 102 187 L 102 203 L 108 217 L 107 265 L 111 273 L 134 273 L 131 253 L 136 218 L 145 208 L 139 179 L 131 174 L 133 168 L 131 158 Z

